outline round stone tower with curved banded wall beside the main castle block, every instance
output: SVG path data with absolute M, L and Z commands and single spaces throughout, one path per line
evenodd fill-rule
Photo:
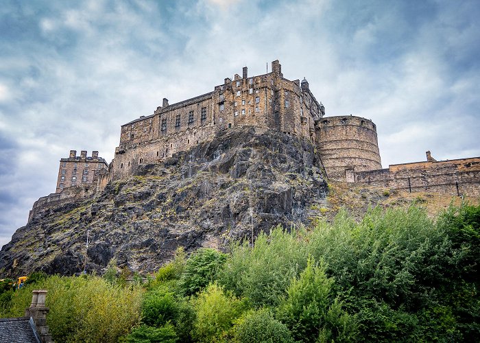
M 317 141 L 326 174 L 331 180 L 355 182 L 355 171 L 381 169 L 375 124 L 353 116 L 323 117 Z

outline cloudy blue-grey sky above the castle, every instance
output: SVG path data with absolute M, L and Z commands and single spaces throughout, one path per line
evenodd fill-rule
M 327 115 L 377 124 L 383 167 L 480 156 L 480 1 L 8 1 L 0 5 L 0 246 L 69 150 L 226 77 L 309 80 Z

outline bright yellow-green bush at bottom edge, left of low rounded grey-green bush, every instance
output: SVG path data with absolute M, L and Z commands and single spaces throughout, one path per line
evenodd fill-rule
M 193 324 L 192 338 L 198 342 L 219 342 L 228 340 L 235 319 L 248 307 L 216 284 L 208 285 L 193 300 L 197 319 Z

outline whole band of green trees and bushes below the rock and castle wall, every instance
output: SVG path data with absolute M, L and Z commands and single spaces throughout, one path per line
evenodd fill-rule
M 1 315 L 22 316 L 42 287 L 57 342 L 474 342 L 479 247 L 480 206 L 435 220 L 417 206 L 358 222 L 340 211 L 228 255 L 178 250 L 143 285 L 125 273 L 48 276 L 3 292 Z

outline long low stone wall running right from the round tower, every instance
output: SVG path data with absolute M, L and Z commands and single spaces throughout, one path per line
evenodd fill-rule
M 390 165 L 389 169 L 357 172 L 355 178 L 360 183 L 391 189 L 477 197 L 480 196 L 480 158 Z

